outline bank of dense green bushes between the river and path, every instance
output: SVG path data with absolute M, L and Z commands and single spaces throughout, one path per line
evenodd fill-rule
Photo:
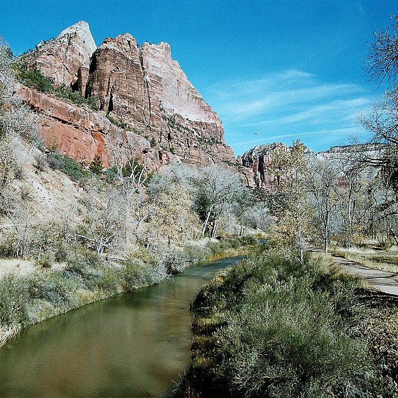
M 398 301 L 321 260 L 242 261 L 193 300 L 177 397 L 398 396 Z

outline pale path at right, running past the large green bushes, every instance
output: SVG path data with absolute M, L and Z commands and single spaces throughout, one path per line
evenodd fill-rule
M 323 253 L 323 250 L 310 248 L 310 251 Z M 346 260 L 337 254 L 331 254 L 332 261 L 340 265 L 350 274 L 359 275 L 364 278 L 371 286 L 381 292 L 398 297 L 398 274 L 392 272 L 373 270 L 354 261 Z

